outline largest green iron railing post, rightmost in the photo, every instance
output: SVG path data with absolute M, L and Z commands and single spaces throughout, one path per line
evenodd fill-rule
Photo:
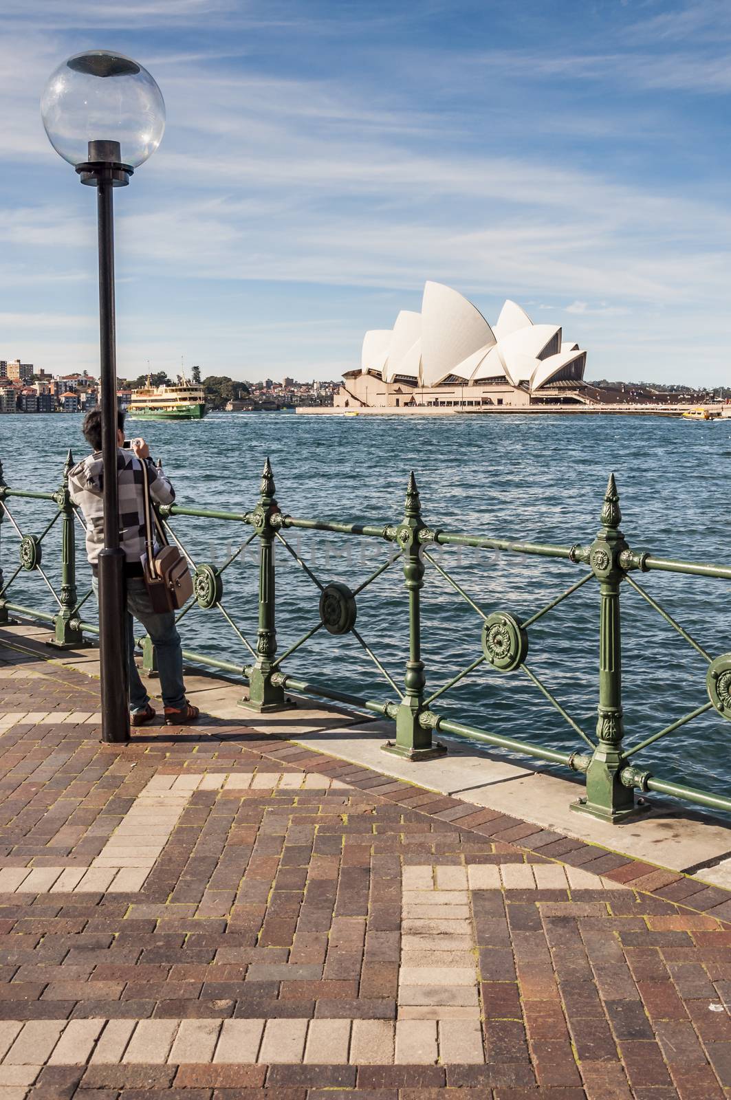
M 634 814 L 634 792 L 622 784 L 622 647 L 620 584 L 624 570 L 620 554 L 628 549 L 620 530 L 620 498 L 610 474 L 601 509 L 601 530 L 589 550 L 589 564 L 599 581 L 599 707 L 598 744 L 587 771 L 587 794 L 572 810 L 602 821 L 620 822 Z

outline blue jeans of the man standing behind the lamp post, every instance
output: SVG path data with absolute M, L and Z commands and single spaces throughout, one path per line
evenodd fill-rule
M 157 670 L 160 673 L 160 690 L 163 706 L 179 711 L 185 706 L 185 684 L 183 683 L 183 650 L 181 636 L 175 626 L 172 612 L 160 614 L 153 612 L 150 596 L 141 576 L 128 576 L 127 585 L 127 651 L 130 668 L 130 711 L 135 714 L 144 711 L 150 696 L 140 679 L 134 663 L 134 623 L 132 616 L 142 624 L 155 647 Z M 91 579 L 94 594 L 99 593 L 99 581 Z

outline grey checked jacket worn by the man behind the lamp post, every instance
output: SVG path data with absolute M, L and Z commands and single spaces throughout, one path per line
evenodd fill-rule
M 172 504 L 175 491 L 152 459 L 145 460 L 150 495 L 159 504 Z M 142 496 L 142 463 L 132 451 L 117 451 L 119 477 L 119 526 L 122 550 L 127 558 L 127 572 L 141 573 L 140 560 L 144 553 L 144 498 Z M 101 452 L 89 454 L 68 474 L 68 492 L 86 519 L 86 553 L 96 570 L 99 551 L 103 547 L 103 465 Z

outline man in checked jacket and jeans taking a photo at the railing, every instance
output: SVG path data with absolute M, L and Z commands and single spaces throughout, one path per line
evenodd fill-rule
M 92 409 L 84 418 L 84 438 L 92 453 L 74 466 L 68 475 L 68 491 L 86 519 L 86 552 L 91 565 L 91 584 L 98 594 L 97 559 L 103 548 L 103 463 L 101 460 L 101 411 Z M 199 715 L 197 706 L 185 697 L 183 651 L 173 612 L 152 609 L 144 582 L 142 556 L 145 552 L 144 480 L 142 463 L 148 470 L 150 496 L 153 503 L 172 504 L 175 491 L 162 470 L 150 458 L 143 439 L 133 439 L 124 448 L 124 414 L 117 414 L 117 476 L 119 480 L 119 527 L 124 551 L 124 584 L 127 588 L 127 631 L 129 654 L 130 713 L 133 726 L 144 726 L 155 717 L 150 696 L 134 663 L 134 630 L 132 616 L 142 624 L 155 647 L 165 724 L 188 725 Z

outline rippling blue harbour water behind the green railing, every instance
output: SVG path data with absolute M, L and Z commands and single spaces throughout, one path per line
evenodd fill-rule
M 0 459 L 9 485 L 54 490 L 72 447 L 86 446 L 80 416 L 0 417 Z M 128 436 L 149 439 L 162 458 L 178 503 L 246 512 L 257 503 L 262 464 L 270 457 L 283 512 L 302 517 L 395 522 L 403 512 L 410 470 L 430 527 L 561 546 L 587 543 L 598 528 L 610 471 L 621 495 L 622 528 L 634 549 L 663 557 L 729 563 L 725 462 L 731 422 L 684 422 L 661 417 L 307 417 L 291 414 L 211 414 L 187 424 L 129 421 Z M 40 534 L 54 505 L 10 502 L 24 532 Z M 174 528 L 198 562 L 222 564 L 251 528 L 175 519 Z M 57 576 L 56 548 L 44 541 L 43 568 Z M 79 532 L 80 535 L 80 532 Z M 373 539 L 288 532 L 292 548 L 323 583 L 354 588 L 391 548 Z M 84 562 L 83 546 L 77 544 Z M 18 539 L 2 525 L 6 579 L 18 564 Z M 544 558 L 456 550 L 439 552 L 444 568 L 485 612 L 527 617 L 565 591 L 585 566 Z M 318 622 L 319 592 L 282 546 L 276 547 L 277 641 L 284 652 Z M 423 592 L 423 657 L 427 692 L 480 654 L 479 616 L 427 563 Z M 641 583 L 712 656 L 731 651 L 727 582 L 646 574 Z M 223 573 L 223 604 L 255 644 L 255 546 Z M 88 572 L 79 570 L 79 593 Z M 46 612 L 53 597 L 37 574 L 22 574 L 9 598 Z M 85 617 L 96 608 L 89 600 Z M 706 662 L 641 597 L 622 592 L 626 743 L 659 730 L 707 700 Z M 401 683 L 407 613 L 399 563 L 358 601 L 357 627 Z M 250 653 L 216 609 L 192 610 L 181 624 L 186 648 L 248 663 Z M 590 582 L 531 628 L 528 661 L 589 736 L 596 723 L 598 592 Z M 285 662 L 303 679 L 325 681 L 371 698 L 394 693 L 352 637 L 324 630 Z M 461 721 L 512 737 L 586 751 L 587 747 L 522 672 L 482 667 L 438 707 Z M 637 755 L 633 762 L 664 779 L 728 794 L 731 726 L 714 712 Z

